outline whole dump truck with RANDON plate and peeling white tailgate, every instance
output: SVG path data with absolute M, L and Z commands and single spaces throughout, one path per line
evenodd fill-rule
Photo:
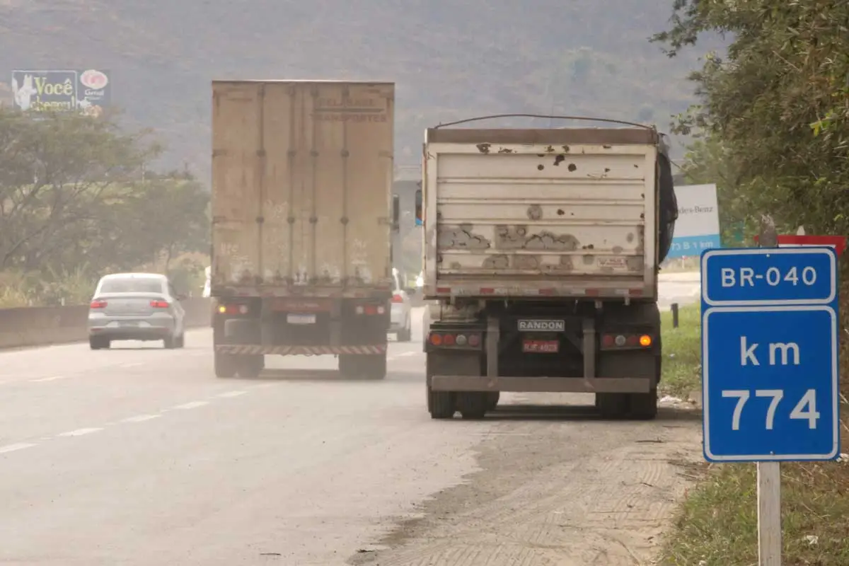
M 484 417 L 501 391 L 594 393 L 605 417 L 655 417 L 678 205 L 665 137 L 624 124 L 426 131 L 431 417 Z

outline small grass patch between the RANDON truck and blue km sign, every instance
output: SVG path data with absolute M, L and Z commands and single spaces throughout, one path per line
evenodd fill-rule
M 663 378 L 661 392 L 687 399 L 701 389 L 700 305 L 678 309 L 678 328 L 672 326 L 672 312 L 661 313 Z

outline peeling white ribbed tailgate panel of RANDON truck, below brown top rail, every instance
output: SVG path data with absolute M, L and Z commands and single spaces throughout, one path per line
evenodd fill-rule
M 572 145 L 555 156 L 532 146 L 482 153 L 431 143 L 427 156 L 436 286 L 650 285 L 654 145 Z

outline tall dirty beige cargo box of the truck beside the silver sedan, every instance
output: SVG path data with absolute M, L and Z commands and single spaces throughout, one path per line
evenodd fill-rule
M 388 82 L 213 81 L 213 296 L 391 293 L 394 98 Z

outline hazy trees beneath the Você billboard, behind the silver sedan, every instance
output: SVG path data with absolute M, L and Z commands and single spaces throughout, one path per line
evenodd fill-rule
M 177 255 L 207 251 L 209 195 L 187 174 L 145 172 L 160 153 L 145 133 L 85 116 L 34 120 L 0 110 L 0 272 L 7 287 L 17 273 L 18 283 L 43 299 L 61 295 L 62 280 L 91 282 L 141 266 L 167 270 Z

